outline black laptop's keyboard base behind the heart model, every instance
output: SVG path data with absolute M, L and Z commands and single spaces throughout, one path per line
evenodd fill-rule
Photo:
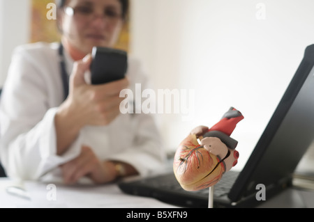
M 218 204 L 228 205 L 226 195 L 238 175 L 239 172 L 229 171 L 214 186 L 214 205 L 216 204 L 216 207 L 219 207 Z M 209 189 L 186 191 L 177 182 L 173 172 L 135 181 L 120 182 L 119 188 L 131 195 L 156 198 L 181 207 L 208 207 Z

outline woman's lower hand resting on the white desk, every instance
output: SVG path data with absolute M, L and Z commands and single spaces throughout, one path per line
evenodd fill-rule
M 100 161 L 88 146 L 82 146 L 80 155 L 60 168 L 66 184 L 75 184 L 84 176 L 96 184 L 111 182 L 117 178 L 114 164 L 111 161 Z

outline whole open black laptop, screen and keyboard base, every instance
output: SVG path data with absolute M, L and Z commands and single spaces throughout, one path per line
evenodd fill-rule
M 214 186 L 214 207 L 255 207 L 260 185 L 266 200 L 292 186 L 292 175 L 314 142 L 314 45 L 306 47 L 267 127 L 241 172 L 230 171 Z M 156 198 L 179 207 L 208 207 L 208 190 L 184 191 L 165 173 L 120 182 L 125 193 Z

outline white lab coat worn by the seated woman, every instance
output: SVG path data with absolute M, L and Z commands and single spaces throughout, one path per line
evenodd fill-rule
M 163 148 L 154 118 L 146 114 L 120 114 L 110 125 L 87 126 L 61 156 L 56 153 L 54 115 L 63 102 L 59 43 L 38 42 L 17 47 L 1 95 L 0 157 L 10 177 L 27 180 L 60 179 L 60 164 L 77 157 L 82 145 L 99 159 L 132 164 L 141 175 L 163 167 Z M 73 61 L 64 51 L 66 69 Z M 128 59 L 130 89 L 147 88 L 140 65 Z M 45 175 L 45 176 L 44 176 Z

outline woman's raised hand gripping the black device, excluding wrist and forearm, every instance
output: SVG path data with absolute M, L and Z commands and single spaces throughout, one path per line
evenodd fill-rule
M 119 94 L 128 86 L 128 80 L 124 78 L 107 84 L 87 84 L 84 74 L 89 71 L 90 65 L 91 55 L 89 54 L 73 66 L 67 99 L 69 108 L 72 113 L 80 116 L 81 126 L 108 125 L 120 113 L 119 105 L 124 98 L 119 97 Z

